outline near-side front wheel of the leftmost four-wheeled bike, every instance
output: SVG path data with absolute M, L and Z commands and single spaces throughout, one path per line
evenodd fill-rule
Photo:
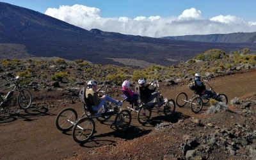
M 124 132 L 126 131 L 132 121 L 132 115 L 131 112 L 128 109 L 124 109 L 117 113 L 115 118 L 115 127 L 116 131 Z

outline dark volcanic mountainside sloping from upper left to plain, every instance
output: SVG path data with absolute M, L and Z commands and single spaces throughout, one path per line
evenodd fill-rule
M 0 3 L 0 58 L 58 56 L 102 65 L 124 65 L 111 59 L 123 58 L 172 65 L 209 49 L 229 52 L 244 47 L 256 51 L 253 44 L 213 44 L 122 35 L 99 29 L 88 31 L 33 10 Z

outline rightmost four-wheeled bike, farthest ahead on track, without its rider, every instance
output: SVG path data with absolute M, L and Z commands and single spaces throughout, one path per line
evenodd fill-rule
M 196 93 L 196 91 L 193 89 L 195 82 L 189 83 L 189 88 L 191 90 L 193 90 L 194 94 L 192 95 L 191 99 L 188 100 L 188 95 L 184 92 L 180 92 L 177 97 L 176 97 L 176 104 L 177 106 L 179 106 L 180 108 L 184 107 L 187 102 L 190 103 L 190 108 L 191 111 L 193 111 L 194 113 L 199 113 L 200 111 L 202 111 L 202 108 L 204 106 L 204 104 L 207 104 L 209 102 L 210 99 L 215 99 L 218 102 L 223 102 L 225 104 L 228 103 L 228 98 L 227 95 L 223 94 L 223 93 L 216 93 L 212 86 L 209 84 L 209 80 L 211 79 L 211 77 L 205 77 L 204 81 L 208 84 L 208 86 L 210 87 L 210 90 L 213 93 L 213 97 L 209 97 L 209 95 L 205 94 L 205 95 L 198 95 Z

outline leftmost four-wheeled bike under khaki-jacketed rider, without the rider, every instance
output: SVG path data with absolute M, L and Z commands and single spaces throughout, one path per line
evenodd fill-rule
M 106 90 L 107 89 L 108 85 L 106 86 Z M 106 90 L 100 92 L 106 94 Z M 83 102 L 84 113 L 79 119 L 77 119 L 77 112 L 73 108 L 66 108 L 58 113 L 56 117 L 56 127 L 60 131 L 66 132 L 72 129 L 72 136 L 74 141 L 76 141 L 77 143 L 86 143 L 86 141 L 90 140 L 90 138 L 92 138 L 93 134 L 95 133 L 95 122 L 93 118 L 97 118 L 99 122 L 112 122 L 111 126 L 115 125 L 116 131 L 124 132 L 129 128 L 129 125 L 131 124 L 131 113 L 127 109 L 123 109 L 122 105 L 116 107 L 116 110 L 113 111 L 111 108 L 109 108 L 109 106 L 111 105 L 111 102 L 109 102 L 107 113 L 103 112 L 103 108 L 99 110 L 99 113 L 97 113 L 95 111 L 92 111 L 92 108 L 90 109 L 90 104 L 88 104 L 87 100 L 84 99 L 84 93 L 85 89 L 82 88 L 82 90 L 80 90 L 79 92 L 79 97 Z M 64 113 L 67 111 L 69 112 L 67 117 L 65 117 L 63 121 L 61 121 L 61 116 L 63 116 Z M 108 120 L 113 115 L 116 115 L 115 120 Z M 129 118 L 128 122 L 125 122 L 125 118 Z M 63 127 L 66 122 L 69 125 L 67 127 Z M 87 129 L 86 127 L 88 127 L 88 125 L 92 125 L 92 128 Z

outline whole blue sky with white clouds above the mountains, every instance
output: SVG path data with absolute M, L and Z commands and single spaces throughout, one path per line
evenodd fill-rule
M 87 30 L 150 37 L 256 32 L 255 0 L 0 0 Z

